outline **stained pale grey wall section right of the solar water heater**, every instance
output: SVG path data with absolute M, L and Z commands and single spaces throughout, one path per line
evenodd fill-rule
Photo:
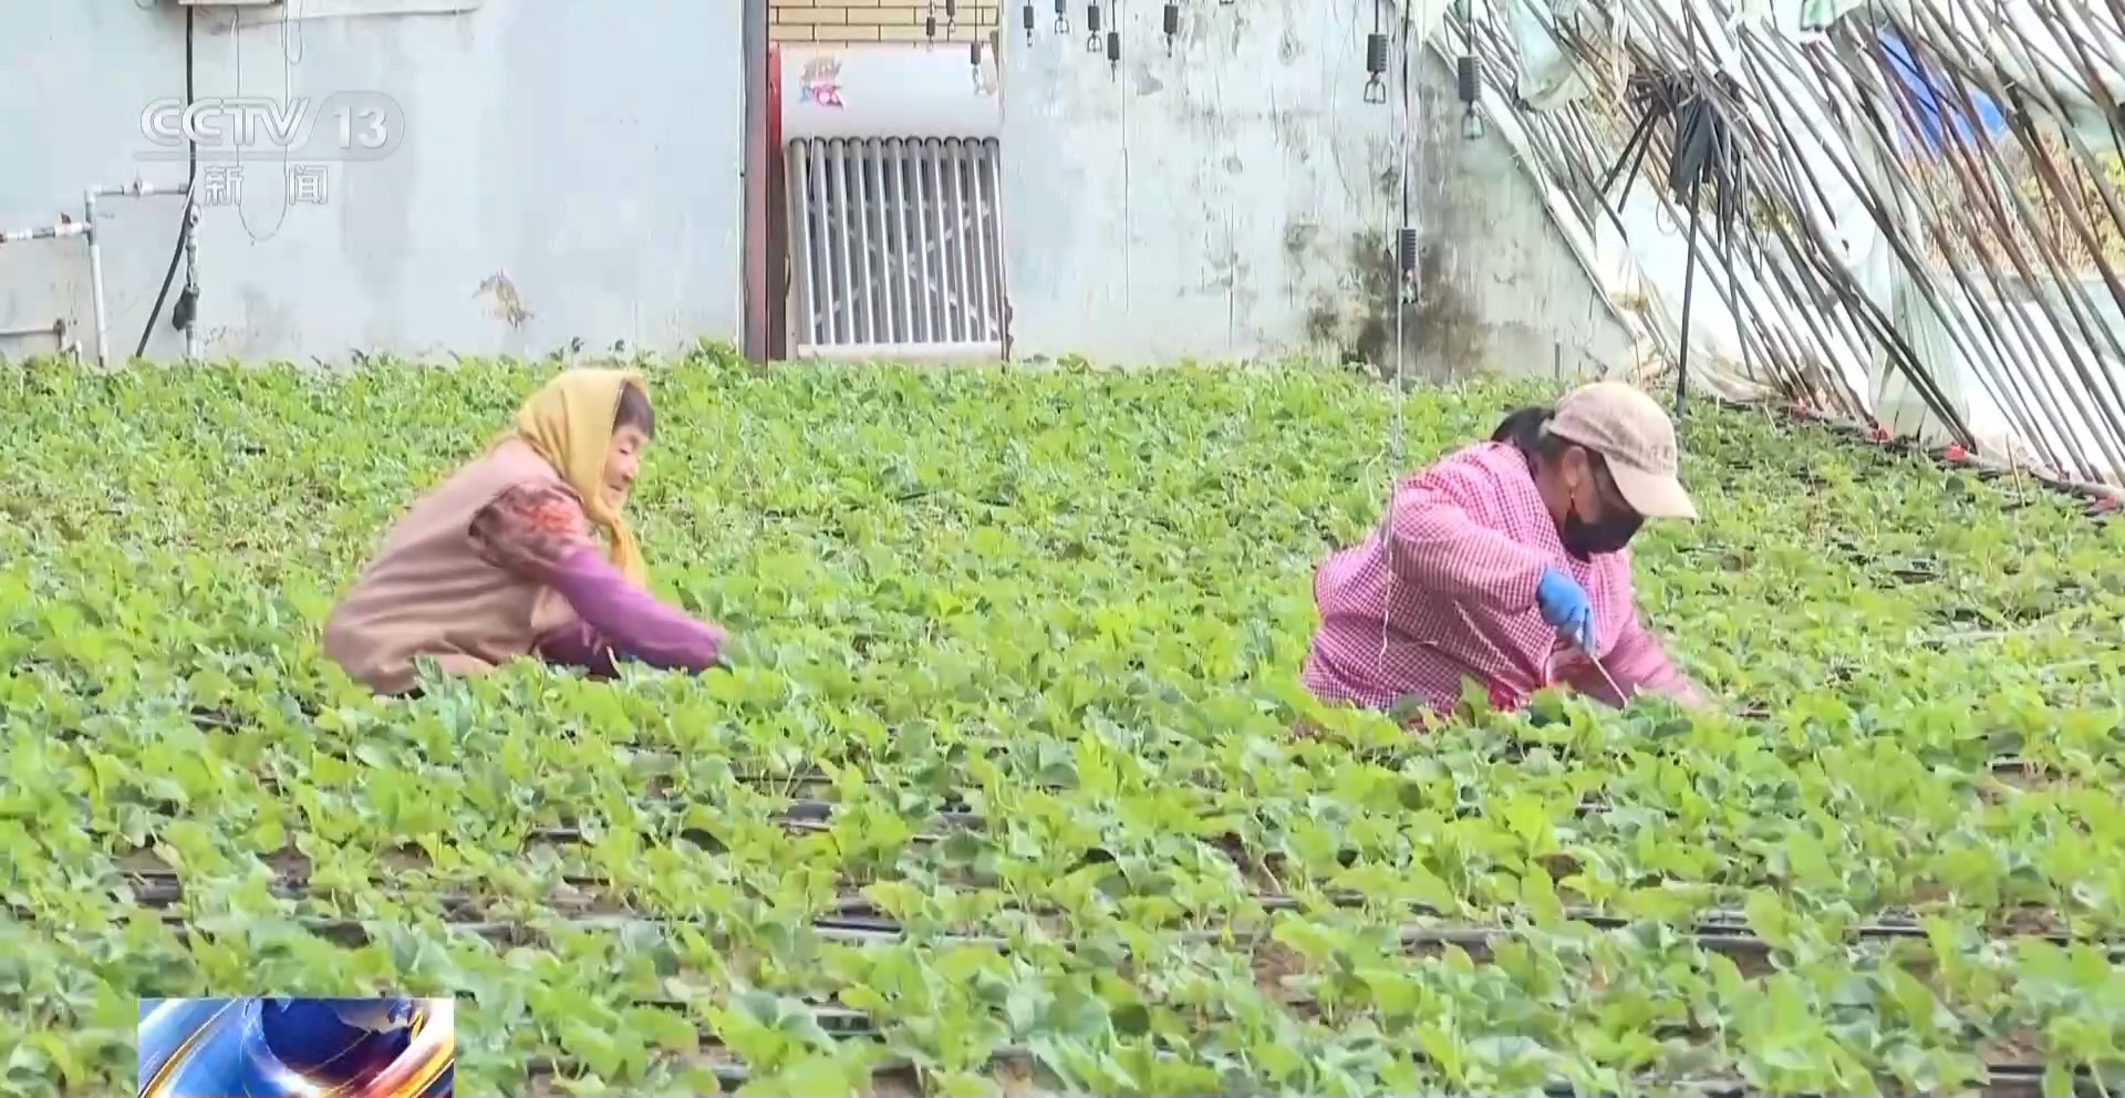
M 1368 6 L 1122 6 L 1122 66 L 1007 11 L 1005 248 L 1016 355 L 1252 357 L 1324 348 L 1390 363 L 1400 204 L 1396 106 L 1364 102 Z M 1016 11 L 1016 8 L 1012 8 Z M 1111 17 L 1109 6 L 1109 23 Z M 1449 68 L 1420 76 L 1405 370 L 1581 374 L 1624 361 L 1600 304 L 1496 138 L 1460 136 Z

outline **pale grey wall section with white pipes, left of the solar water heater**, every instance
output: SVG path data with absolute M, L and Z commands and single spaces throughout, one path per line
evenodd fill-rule
M 181 159 L 140 159 L 153 149 L 142 108 L 185 89 L 183 40 L 183 8 L 166 2 L 6 4 L 0 223 L 79 217 L 94 183 L 183 181 Z M 278 153 L 244 155 L 242 202 L 204 208 L 200 225 L 210 355 L 544 355 L 572 340 L 737 336 L 737 0 L 487 0 L 234 32 L 227 11 L 202 8 L 196 83 L 200 96 L 312 102 L 382 91 L 404 117 L 387 157 L 321 164 L 323 204 L 289 202 Z M 113 206 L 110 336 L 132 353 L 181 200 Z M 87 327 L 87 270 L 79 238 L 0 246 L 0 329 L 53 316 Z M 11 340 L 0 355 L 49 346 Z M 157 325 L 149 355 L 181 350 Z

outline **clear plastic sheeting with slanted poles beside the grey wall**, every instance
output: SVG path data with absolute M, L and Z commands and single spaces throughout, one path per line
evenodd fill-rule
M 1485 115 L 1649 357 L 1683 357 L 1687 314 L 1692 389 L 2121 484 L 2114 2 L 1496 0 L 1473 17 L 1485 83 L 1517 91 L 1485 93 Z M 1449 8 L 1441 53 L 1464 49 L 1468 15 Z M 1668 178 L 1677 117 L 1619 159 L 1653 100 L 1677 117 L 1694 100 L 1732 142 L 1708 187 L 1734 191 L 1728 215 L 1700 193 L 1694 234 Z

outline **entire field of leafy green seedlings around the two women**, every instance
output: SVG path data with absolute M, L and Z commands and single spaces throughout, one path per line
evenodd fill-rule
M 468 1094 L 2125 1083 L 2125 527 L 1700 406 L 1636 542 L 1715 697 L 1311 699 L 1311 569 L 1553 389 L 648 363 L 733 669 L 319 652 L 546 363 L 0 374 L 0 1098 L 134 1002 L 459 996 Z

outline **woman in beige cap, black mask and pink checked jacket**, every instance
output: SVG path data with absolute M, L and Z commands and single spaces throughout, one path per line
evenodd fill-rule
M 1653 397 L 1594 382 L 1522 408 L 1396 484 L 1379 537 L 1320 567 L 1305 682 L 1381 709 L 1449 711 L 1464 677 L 1500 709 L 1551 684 L 1702 703 L 1638 620 L 1628 548 L 1647 518 L 1696 516 Z

